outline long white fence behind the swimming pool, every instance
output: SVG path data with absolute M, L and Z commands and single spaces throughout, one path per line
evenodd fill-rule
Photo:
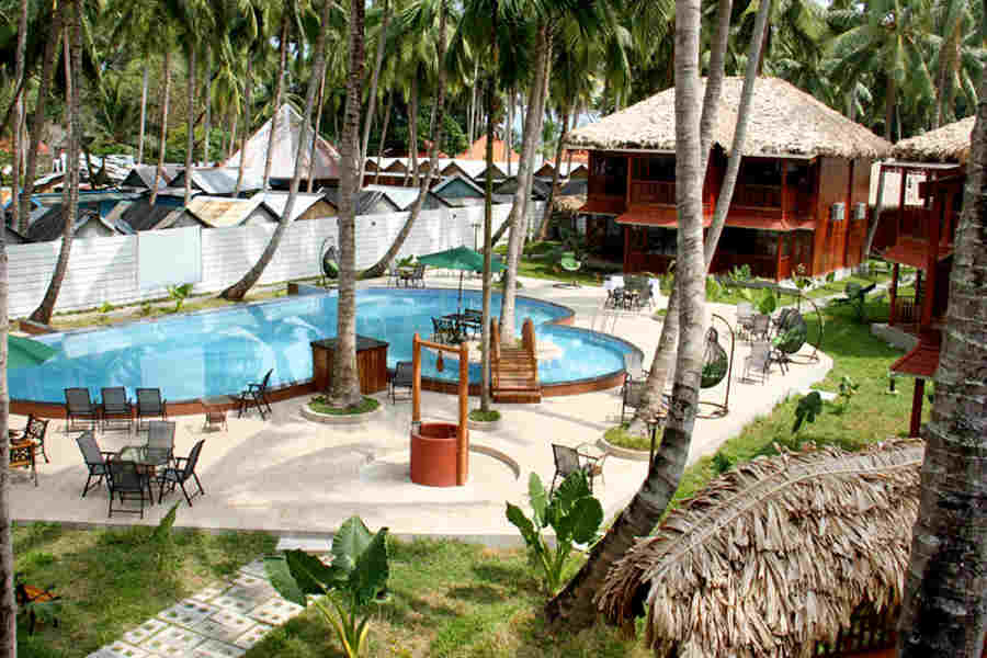
M 529 204 L 529 216 L 534 218 L 529 224 L 540 222 L 543 209 L 543 202 Z M 494 206 L 495 231 L 509 213 L 510 205 Z M 377 262 L 394 242 L 407 217 L 408 213 L 395 213 L 356 218 L 358 269 L 368 268 Z M 474 247 L 475 235 L 483 239 L 483 206 L 422 211 L 399 256 L 429 253 L 460 245 Z M 480 225 L 478 230 L 474 224 Z M 195 283 L 194 292 L 219 292 L 239 280 L 260 258 L 274 227 L 271 224 L 201 229 L 201 280 Z M 274 259 L 264 270 L 260 283 L 319 275 L 319 250 L 327 239 L 329 243 L 338 245 L 334 217 L 295 222 L 282 237 Z M 138 240 L 140 234 L 72 240 L 68 272 L 58 295 L 56 310 L 93 308 L 104 303 L 115 306 L 167 296 L 164 287 L 140 288 Z M 195 240 L 189 243 L 194 249 Z M 8 246 L 11 318 L 27 316 L 41 303 L 60 249 L 61 240 Z M 168 258 L 168 254 L 156 256 L 159 259 Z M 188 261 L 188 256 L 183 253 L 181 260 Z M 174 280 L 196 279 L 198 275 L 193 272 L 175 272 Z

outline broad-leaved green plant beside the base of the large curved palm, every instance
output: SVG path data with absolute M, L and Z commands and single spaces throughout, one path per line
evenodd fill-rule
M 521 531 L 529 557 L 544 571 L 545 586 L 554 594 L 561 586 L 563 568 L 572 545 L 589 544 L 599 537 L 603 507 L 593 498 L 582 470 L 570 473 L 551 494 L 545 491 L 537 474 L 532 473 L 527 497 L 532 518 L 510 502 L 507 503 L 507 518 Z M 554 552 L 544 534 L 548 527 L 555 531 Z

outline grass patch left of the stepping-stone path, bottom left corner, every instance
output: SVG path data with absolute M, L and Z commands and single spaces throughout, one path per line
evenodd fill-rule
M 54 585 L 63 598 L 57 628 L 29 636 L 19 619 L 19 655 L 87 656 L 275 544 L 264 533 L 191 531 L 175 531 L 170 544 L 160 544 L 151 540 L 152 531 L 14 524 L 14 570 L 23 571 L 27 583 Z

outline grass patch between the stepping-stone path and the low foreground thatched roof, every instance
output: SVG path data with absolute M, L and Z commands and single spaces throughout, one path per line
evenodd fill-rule
M 390 540 L 390 602 L 371 621 L 367 655 L 466 657 L 628 657 L 649 655 L 639 642 L 600 625 L 552 634 L 547 600 L 523 551 L 452 541 Z M 569 576 L 579 566 L 569 565 Z M 328 624 L 309 610 L 272 631 L 245 658 L 341 656 Z

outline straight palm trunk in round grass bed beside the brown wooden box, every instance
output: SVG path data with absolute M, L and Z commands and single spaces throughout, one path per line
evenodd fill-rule
M 339 300 L 336 336 L 338 344 L 333 362 L 329 404 L 351 407 L 363 399 L 356 376 L 356 222 L 354 200 L 360 190 L 360 104 L 363 78 L 364 1 L 350 0 L 350 55 L 347 76 L 347 109 L 342 136 L 342 172 L 339 191 Z

